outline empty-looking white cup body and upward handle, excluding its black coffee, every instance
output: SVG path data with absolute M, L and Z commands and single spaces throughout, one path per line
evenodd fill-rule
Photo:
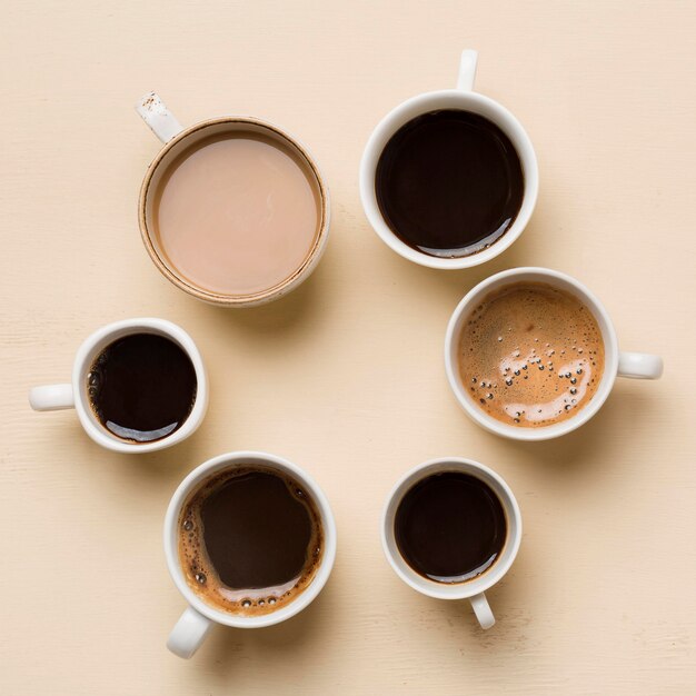
M 537 201 L 539 171 L 529 136 L 521 123 L 501 105 L 474 90 L 478 53 L 465 50 L 455 89 L 426 92 L 408 99 L 391 110 L 369 137 L 360 162 L 360 199 L 370 225 L 381 240 L 404 258 L 429 268 L 458 269 L 485 264 L 505 251 L 523 232 Z M 418 116 L 440 109 L 459 109 L 478 113 L 498 126 L 511 140 L 523 167 L 525 190 L 523 203 L 511 227 L 487 249 L 458 258 L 440 258 L 424 253 L 401 241 L 385 221 L 377 203 L 375 175 L 385 146 L 394 133 Z

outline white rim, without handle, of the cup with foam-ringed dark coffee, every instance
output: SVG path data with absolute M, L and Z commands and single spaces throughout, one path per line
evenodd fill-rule
M 191 490 L 203 479 L 218 470 L 228 468 L 229 466 L 239 466 L 242 464 L 259 464 L 269 466 L 275 470 L 289 473 L 291 476 L 300 480 L 310 491 L 321 515 L 321 524 L 324 525 L 325 549 L 321 563 L 310 584 L 286 607 L 277 609 L 271 614 L 262 616 L 235 616 L 221 609 L 216 609 L 198 597 L 188 586 L 181 566 L 179 564 L 177 523 L 181 506 L 186 501 Z M 235 628 L 262 628 L 280 624 L 292 616 L 299 614 L 309 606 L 319 595 L 326 585 L 336 559 L 336 521 L 329 505 L 328 498 L 315 481 L 315 479 L 296 464 L 265 451 L 258 450 L 239 450 L 226 453 L 212 457 L 203 461 L 190 471 L 179 484 L 173 493 L 167 513 L 165 515 L 163 525 L 165 556 L 167 558 L 167 567 L 177 589 L 181 593 L 189 606 L 206 616 L 212 622 L 232 626 Z

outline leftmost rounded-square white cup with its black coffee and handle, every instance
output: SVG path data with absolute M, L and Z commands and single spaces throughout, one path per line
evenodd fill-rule
M 68 384 L 34 387 L 34 410 L 74 408 L 107 449 L 145 454 L 185 440 L 208 408 L 208 380 L 193 339 L 157 318 L 109 324 L 79 347 Z

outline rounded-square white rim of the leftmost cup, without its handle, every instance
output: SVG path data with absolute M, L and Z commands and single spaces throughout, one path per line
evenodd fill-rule
M 109 435 L 101 425 L 98 425 L 92 414 L 89 399 L 84 392 L 82 375 L 89 370 L 90 361 L 97 357 L 98 348 L 102 344 L 108 345 L 111 340 L 118 340 L 123 336 L 139 332 L 158 332 L 167 336 L 179 345 L 193 364 L 196 370 L 196 400 L 193 408 L 183 421 L 181 427 L 159 440 L 151 443 L 128 443 Z M 113 337 L 113 339 L 111 339 Z M 113 451 L 125 454 L 146 454 L 171 447 L 187 437 L 191 436 L 202 422 L 208 408 L 208 379 L 202 357 L 193 339 L 179 326 L 159 319 L 157 317 L 140 317 L 135 319 L 123 319 L 113 321 L 97 329 L 88 336 L 78 348 L 72 367 L 72 392 L 74 397 L 74 408 L 80 419 L 82 428 L 98 445 Z

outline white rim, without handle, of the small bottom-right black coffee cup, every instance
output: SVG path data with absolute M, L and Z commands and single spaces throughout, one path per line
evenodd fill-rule
M 394 544 L 395 553 L 398 554 L 399 558 L 402 560 L 402 564 L 396 560 L 395 554 L 392 554 L 392 550 L 389 547 L 389 540 L 394 538 L 394 515 L 391 515 L 390 511 L 394 509 L 394 514 L 396 514 L 398 505 L 406 495 L 406 493 L 408 493 L 408 490 L 410 490 L 410 488 L 415 486 L 418 481 L 427 478 L 430 473 L 447 470 L 465 471 L 467 474 L 476 476 L 485 484 L 490 486 L 489 481 L 486 480 L 487 477 L 495 481 L 500 490 L 503 490 L 503 493 L 505 494 L 505 499 L 499 495 L 497 490 L 494 490 L 494 493 L 500 499 L 506 518 L 508 518 L 508 538 L 506 538 L 504 551 L 506 551 L 506 547 L 509 544 L 509 551 L 506 551 L 504 565 L 500 565 L 504 560 L 501 558 L 499 561 L 494 564 L 494 566 L 491 566 L 490 571 L 487 570 L 483 575 L 471 580 L 456 583 L 451 585 L 436 583 L 435 580 L 430 580 L 429 578 L 421 577 L 415 570 L 410 569 L 408 563 L 400 555 L 398 548 L 396 547 L 396 541 Z M 479 474 L 483 476 L 479 476 Z M 513 517 L 513 519 L 509 519 L 509 517 Z M 513 528 L 514 534 L 511 531 Z M 487 467 L 484 464 L 480 464 L 479 461 L 465 457 L 438 457 L 436 459 L 428 459 L 427 461 L 424 461 L 412 467 L 411 469 L 406 471 L 406 474 L 404 474 L 392 486 L 389 495 L 387 496 L 381 513 L 381 546 L 387 561 L 391 566 L 392 570 L 397 574 L 397 576 L 401 580 L 404 580 L 404 583 L 406 583 L 409 587 L 419 591 L 422 595 L 434 597 L 435 599 L 468 599 L 490 589 L 500 579 L 503 579 L 503 577 L 513 566 L 513 563 L 517 557 L 517 553 L 519 551 L 521 535 L 521 513 L 513 489 L 498 473 L 494 471 L 494 469 Z

